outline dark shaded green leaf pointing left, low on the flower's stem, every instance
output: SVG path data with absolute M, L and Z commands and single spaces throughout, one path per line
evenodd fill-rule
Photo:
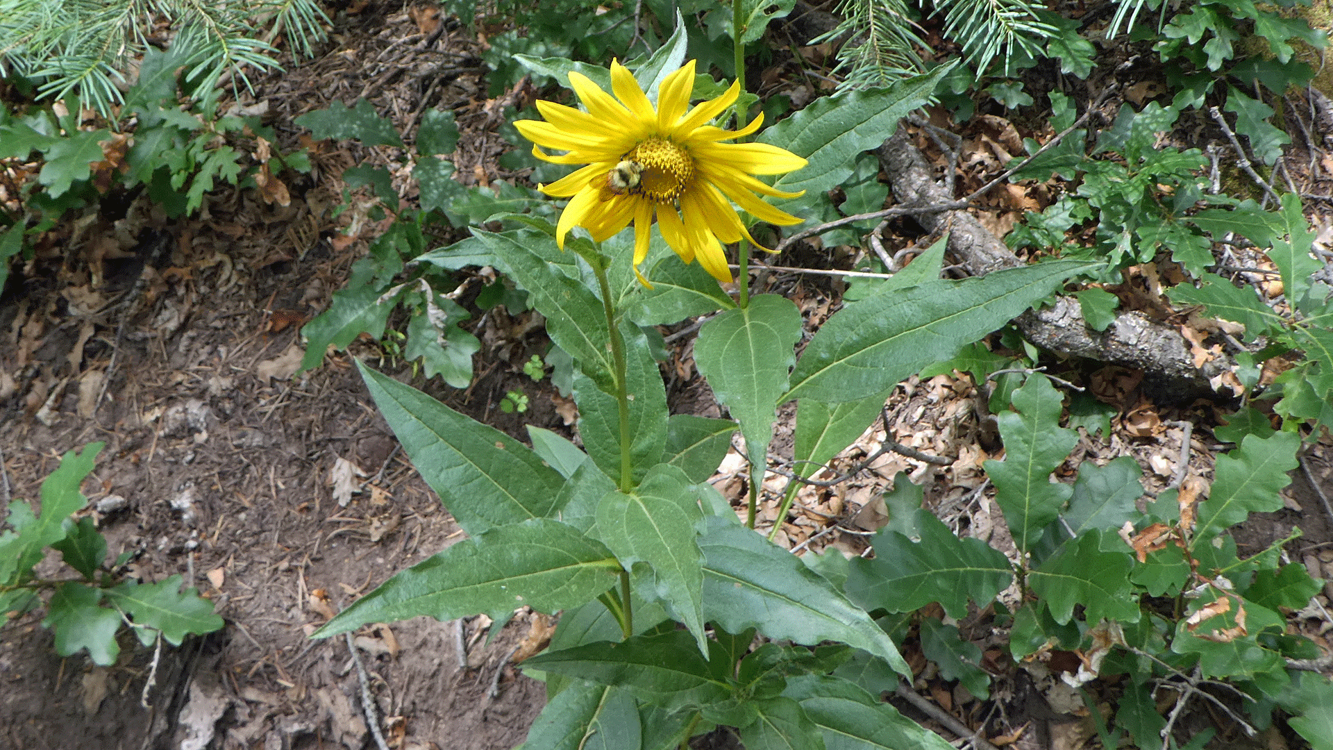
M 721 657 L 721 654 L 718 654 Z M 563 651 L 547 651 L 525 667 L 615 685 L 640 701 L 664 709 L 685 709 L 721 701 L 730 694 L 724 674 L 730 663 L 709 662 L 684 630 L 636 635 L 619 643 L 599 642 Z

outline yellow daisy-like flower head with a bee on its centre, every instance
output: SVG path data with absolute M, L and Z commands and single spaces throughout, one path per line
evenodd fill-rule
M 657 89 L 657 109 L 620 63 L 611 64 L 615 97 L 587 76 L 571 72 L 569 84 L 587 112 L 551 101 L 537 101 L 547 119 L 515 123 L 533 141 L 532 152 L 556 164 L 587 164 L 548 185 L 547 195 L 569 198 L 560 215 L 556 242 L 587 228 L 597 242 L 635 223 L 635 272 L 648 256 L 648 232 L 657 218 L 666 244 L 689 263 L 698 260 L 713 278 L 732 280 L 721 243 L 754 242 L 741 223 L 734 202 L 753 216 L 772 224 L 800 224 L 801 219 L 764 203 L 757 195 L 797 198 L 750 175 L 777 175 L 805 165 L 790 151 L 761 143 L 721 143 L 758 129 L 764 115 L 738 129 L 724 131 L 708 123 L 740 95 L 740 85 L 689 107 L 694 61 L 666 76 Z M 619 99 L 619 101 L 617 101 Z M 543 148 L 564 151 L 549 155 Z M 758 243 L 754 243 L 758 246 Z M 761 246 L 758 246 L 761 247 Z M 766 250 L 766 248 L 765 248 Z

